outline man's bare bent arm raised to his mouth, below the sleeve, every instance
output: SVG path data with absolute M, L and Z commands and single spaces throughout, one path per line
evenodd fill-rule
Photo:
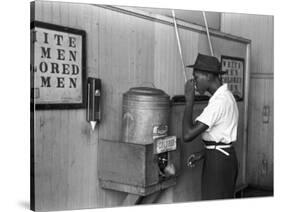
M 208 129 L 208 125 L 197 121 L 193 124 L 192 113 L 194 104 L 194 82 L 189 80 L 185 84 L 185 109 L 183 115 L 182 138 L 184 142 L 190 142 Z

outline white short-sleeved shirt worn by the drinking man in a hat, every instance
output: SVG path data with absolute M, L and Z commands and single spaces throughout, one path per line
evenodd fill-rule
M 238 116 L 236 100 L 228 90 L 227 84 L 223 84 L 195 120 L 209 126 L 202 134 L 203 140 L 228 144 L 237 139 Z

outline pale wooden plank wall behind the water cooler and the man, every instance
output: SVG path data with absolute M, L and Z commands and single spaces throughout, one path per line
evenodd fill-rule
M 48 1 L 35 2 L 35 20 L 85 30 L 87 76 L 102 79 L 102 121 L 94 132 L 86 121 L 85 109 L 36 111 L 35 209 L 119 206 L 125 193 L 99 187 L 98 142 L 120 139 L 122 94 L 130 87 L 155 86 L 171 96 L 183 94 L 174 28 L 94 5 Z M 198 52 L 208 53 L 204 34 L 180 29 L 180 36 L 185 64 L 193 63 Z M 217 56 L 245 56 L 245 44 L 213 39 Z M 206 102 L 198 104 L 196 113 L 205 105 Z M 182 109 L 173 109 L 172 128 L 179 137 Z M 239 109 L 243 123 L 243 103 L 239 103 Z M 241 124 L 239 131 L 242 129 Z M 201 148 L 200 142 L 186 145 L 182 150 L 183 162 Z M 158 202 L 200 199 L 199 175 L 200 166 L 183 167 L 177 186 L 168 189 Z

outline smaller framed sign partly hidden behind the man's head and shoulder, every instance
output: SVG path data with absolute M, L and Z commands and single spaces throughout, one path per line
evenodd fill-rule
M 244 98 L 244 59 L 222 55 L 221 69 L 226 72 L 222 75 L 223 83 L 228 84 L 229 90 L 237 101 L 242 101 Z

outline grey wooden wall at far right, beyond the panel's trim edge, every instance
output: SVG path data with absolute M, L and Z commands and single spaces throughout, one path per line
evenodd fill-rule
M 250 184 L 273 189 L 273 16 L 222 14 L 221 20 L 223 32 L 252 41 L 247 175 Z

